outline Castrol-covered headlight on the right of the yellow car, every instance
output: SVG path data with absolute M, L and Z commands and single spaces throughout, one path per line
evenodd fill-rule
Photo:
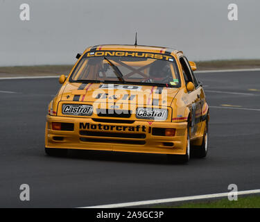
M 168 117 L 168 110 L 157 108 L 137 108 L 135 115 L 138 119 L 166 120 Z

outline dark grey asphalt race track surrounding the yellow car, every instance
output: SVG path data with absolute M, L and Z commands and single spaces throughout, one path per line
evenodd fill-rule
M 210 106 L 209 153 L 189 164 L 165 155 L 44 153 L 47 104 L 58 79 L 0 80 L 0 207 L 85 207 L 260 188 L 260 72 L 197 74 Z M 30 201 L 19 199 L 21 184 Z

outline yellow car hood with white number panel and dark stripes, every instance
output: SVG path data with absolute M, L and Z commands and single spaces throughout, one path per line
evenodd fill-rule
M 67 83 L 61 101 L 170 106 L 178 88 L 150 85 Z

